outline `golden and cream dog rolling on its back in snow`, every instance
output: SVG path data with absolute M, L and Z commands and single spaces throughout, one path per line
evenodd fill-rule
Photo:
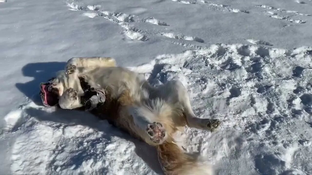
M 195 116 L 187 89 L 176 80 L 151 86 L 138 73 L 116 67 L 112 58 L 72 58 L 56 78 L 41 83 L 44 105 L 85 109 L 155 146 L 167 175 L 211 175 L 175 143 L 177 130 L 215 130 L 221 122 Z

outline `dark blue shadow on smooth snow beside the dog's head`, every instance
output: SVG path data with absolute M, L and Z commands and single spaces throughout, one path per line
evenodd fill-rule
M 39 84 L 47 82 L 50 78 L 55 77 L 55 73 L 65 69 L 66 62 L 42 62 L 29 63 L 22 68 L 24 77 L 32 77 L 33 80 L 26 83 L 16 83 L 18 90 L 25 94 L 37 105 L 42 105 L 39 94 Z

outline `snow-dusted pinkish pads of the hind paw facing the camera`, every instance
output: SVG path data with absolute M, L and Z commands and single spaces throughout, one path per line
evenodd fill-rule
M 161 123 L 154 122 L 149 124 L 146 128 L 148 135 L 150 136 L 152 142 L 156 144 L 162 144 L 166 136 L 165 129 Z

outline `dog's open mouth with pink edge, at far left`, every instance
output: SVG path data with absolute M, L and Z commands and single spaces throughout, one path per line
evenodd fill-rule
M 49 91 L 48 87 L 51 83 L 40 83 L 40 96 L 44 106 L 54 106 L 58 103 L 58 96 Z

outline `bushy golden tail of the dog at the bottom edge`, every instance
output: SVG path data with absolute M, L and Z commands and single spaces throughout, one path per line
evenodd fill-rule
M 158 159 L 166 175 L 213 175 L 212 167 L 196 162 L 175 143 L 157 145 Z

